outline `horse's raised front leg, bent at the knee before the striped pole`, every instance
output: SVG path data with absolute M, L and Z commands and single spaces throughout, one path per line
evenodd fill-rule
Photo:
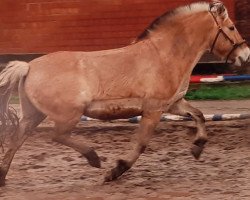
M 202 112 L 197 108 L 192 107 L 185 99 L 177 101 L 172 107 L 170 107 L 168 112 L 181 116 L 191 116 L 195 121 L 197 133 L 193 142 L 194 145 L 191 148 L 191 153 L 196 159 L 199 159 L 204 145 L 207 142 L 205 118 Z

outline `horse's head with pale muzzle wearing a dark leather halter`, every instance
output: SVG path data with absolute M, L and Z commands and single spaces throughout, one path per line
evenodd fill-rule
M 218 1 L 211 3 L 210 13 L 214 19 L 214 28 L 217 30 L 211 43 L 211 52 L 237 66 L 250 60 L 250 49 L 228 17 L 223 3 Z

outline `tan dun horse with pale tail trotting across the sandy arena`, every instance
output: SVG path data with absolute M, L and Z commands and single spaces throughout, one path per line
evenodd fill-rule
M 141 115 L 133 149 L 105 175 L 112 181 L 129 170 L 145 151 L 163 112 L 191 115 L 198 130 L 192 153 L 199 158 L 207 135 L 202 113 L 183 97 L 194 66 L 206 52 L 235 65 L 248 61 L 250 49 L 222 2 L 197 2 L 155 19 L 128 46 L 95 52 L 56 52 L 12 61 L 0 73 L 1 133 L 10 134 L 0 166 L 0 184 L 17 150 L 46 117 L 55 123 L 53 140 L 73 148 L 100 168 L 96 151 L 70 132 L 84 114 L 96 119 Z M 9 99 L 18 86 L 21 117 Z

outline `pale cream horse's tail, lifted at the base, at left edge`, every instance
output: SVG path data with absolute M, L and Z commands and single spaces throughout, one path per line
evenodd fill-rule
M 28 63 L 12 61 L 0 73 L 0 146 L 2 147 L 6 133 L 15 133 L 19 126 L 18 116 L 9 106 L 9 100 L 12 91 L 28 72 Z

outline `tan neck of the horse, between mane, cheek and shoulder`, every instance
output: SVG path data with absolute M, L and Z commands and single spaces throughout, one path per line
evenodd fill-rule
M 180 19 L 178 24 L 166 26 L 170 28 L 164 28 L 150 38 L 166 65 L 172 64 L 175 60 L 173 58 L 176 58 L 178 59 L 176 62 L 181 64 L 178 68 L 191 73 L 208 49 L 211 35 L 214 35 L 214 32 L 210 31 L 213 22 L 207 15 L 205 17 L 199 15 L 201 13 Z

